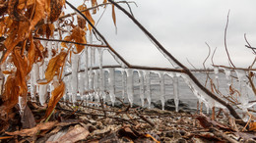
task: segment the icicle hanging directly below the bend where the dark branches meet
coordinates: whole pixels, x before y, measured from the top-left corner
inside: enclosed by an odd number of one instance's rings
[[[127,96],[131,106],[133,106],[133,70],[126,69],[125,71],[127,73]]]

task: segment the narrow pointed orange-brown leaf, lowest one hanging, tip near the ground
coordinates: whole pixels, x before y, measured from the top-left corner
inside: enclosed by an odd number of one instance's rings
[[[63,81],[61,81],[60,85],[57,88],[55,88],[51,93],[51,97],[48,103],[48,108],[44,116],[45,119],[48,118],[48,116],[51,114],[51,112],[53,111],[53,109],[55,108],[59,100],[62,98],[62,96],[64,95],[64,91],[65,91],[65,84]]]

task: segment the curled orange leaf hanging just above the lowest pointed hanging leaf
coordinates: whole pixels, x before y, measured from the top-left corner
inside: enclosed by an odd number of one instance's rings
[[[47,82],[40,83],[40,84],[46,84],[49,81],[53,79],[53,76],[55,74],[59,74],[60,68],[64,66],[64,62],[66,59],[67,53],[66,52],[60,52],[59,55],[53,57],[48,64],[48,67],[45,71],[45,79]]]

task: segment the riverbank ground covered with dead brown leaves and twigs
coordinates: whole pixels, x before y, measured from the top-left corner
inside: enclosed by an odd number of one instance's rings
[[[45,108],[30,103],[35,120]],[[16,115],[17,116],[17,115]],[[206,115],[160,109],[104,105],[72,106],[59,103],[50,119],[22,129],[21,119],[12,119],[1,132],[1,142],[254,142],[255,132],[246,131],[223,114],[214,120]],[[3,125],[3,124],[2,124]]]

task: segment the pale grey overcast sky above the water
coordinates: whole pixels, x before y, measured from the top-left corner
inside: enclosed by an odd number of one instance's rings
[[[237,67],[248,67],[255,55],[245,48],[243,34],[256,47],[255,0],[134,0],[131,4],[135,18],[143,24],[174,57],[191,68],[201,68],[208,54],[217,47],[215,64],[228,66],[224,51],[224,26],[230,10],[227,46]],[[74,3],[78,6],[78,3]],[[125,4],[123,7],[127,8]],[[101,14],[99,11],[97,14]],[[98,20],[97,16],[94,16]],[[170,67],[145,34],[116,9],[117,34],[108,6],[96,27],[109,44],[129,63],[155,67]],[[107,61],[107,57],[105,61]],[[207,63],[210,66],[211,62]]]

